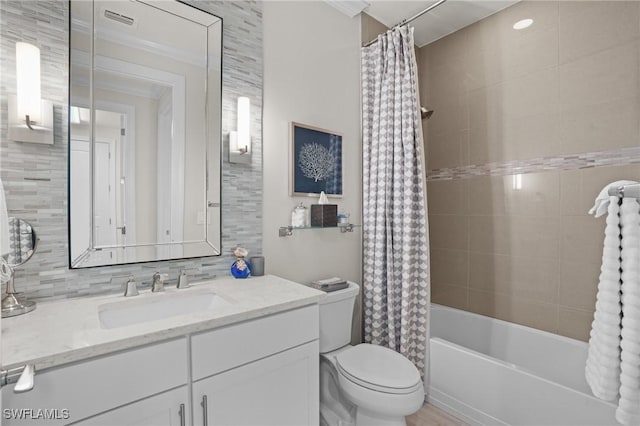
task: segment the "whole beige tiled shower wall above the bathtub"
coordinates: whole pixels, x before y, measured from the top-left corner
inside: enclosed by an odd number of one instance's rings
[[[640,181],[640,3],[522,1],[420,58],[432,300],[587,340],[604,237],[587,211]]]

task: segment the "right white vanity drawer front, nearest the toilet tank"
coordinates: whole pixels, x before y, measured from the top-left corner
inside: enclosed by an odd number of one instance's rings
[[[318,305],[196,334],[192,377],[208,377],[316,339]]]

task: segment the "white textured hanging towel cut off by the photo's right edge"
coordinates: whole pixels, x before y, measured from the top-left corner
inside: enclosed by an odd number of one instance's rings
[[[620,400],[616,419],[640,424],[640,204],[624,198],[620,207],[622,328]]]

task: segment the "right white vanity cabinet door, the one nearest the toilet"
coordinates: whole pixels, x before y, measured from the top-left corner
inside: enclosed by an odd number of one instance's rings
[[[317,425],[318,351],[316,340],[195,382],[194,425]]]

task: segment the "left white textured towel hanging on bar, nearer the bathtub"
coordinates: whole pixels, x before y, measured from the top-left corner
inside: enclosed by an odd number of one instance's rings
[[[602,266],[585,377],[595,396],[613,401],[620,389],[620,208],[617,197],[607,197]],[[599,200],[603,201],[602,198]]]

